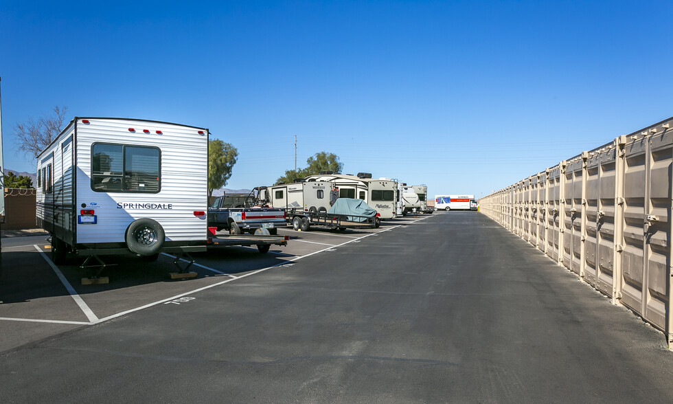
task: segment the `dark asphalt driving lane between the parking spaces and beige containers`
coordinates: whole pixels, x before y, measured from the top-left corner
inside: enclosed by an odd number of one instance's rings
[[[661,333],[486,216],[381,230],[0,352],[0,402],[673,402]]]

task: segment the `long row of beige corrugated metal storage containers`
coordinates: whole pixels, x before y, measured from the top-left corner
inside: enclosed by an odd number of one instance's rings
[[[673,117],[479,200],[480,212],[662,330],[673,346]]]

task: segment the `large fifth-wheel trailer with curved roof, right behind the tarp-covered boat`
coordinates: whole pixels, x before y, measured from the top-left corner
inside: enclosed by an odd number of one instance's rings
[[[358,172],[358,175],[343,175],[324,172],[319,175],[310,175],[306,181],[325,181],[334,184],[339,190],[340,198],[362,199],[376,209],[380,218],[396,217],[396,181],[387,179],[372,179],[367,172]]]

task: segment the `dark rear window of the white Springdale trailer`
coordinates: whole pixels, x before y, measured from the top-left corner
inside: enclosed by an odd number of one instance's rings
[[[161,151],[156,147],[93,144],[91,189],[156,194],[161,190]]]

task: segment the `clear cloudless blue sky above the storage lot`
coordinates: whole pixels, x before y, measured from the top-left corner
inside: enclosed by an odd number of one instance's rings
[[[320,151],[477,197],[673,115],[672,1],[0,1],[14,127],[67,106],[210,129],[227,188]]]

